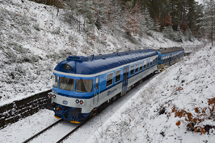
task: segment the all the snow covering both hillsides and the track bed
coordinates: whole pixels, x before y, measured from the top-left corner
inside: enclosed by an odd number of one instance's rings
[[[95,29],[94,41],[83,31],[79,32],[77,25],[64,21],[66,11],[60,10],[59,16],[56,13],[54,7],[27,0],[24,3],[21,0],[0,0],[0,105],[50,89],[54,66],[72,54],[88,56],[128,48],[182,46],[186,52],[193,53],[147,81],[145,86],[122,97],[122,102],[116,101],[66,142],[214,141],[214,129],[210,130],[210,134],[188,131],[188,117],[175,117],[173,109],[178,112],[185,110],[192,114],[193,119],[200,118],[195,108],[200,112],[204,110],[204,121],[198,122],[195,127],[215,126],[214,116],[209,117],[212,105],[208,105],[208,99],[215,97],[215,47],[197,46],[202,43],[197,40],[176,43],[154,31],[151,31],[151,36],[135,37],[139,43],[135,45],[120,32],[113,34]],[[0,142],[24,141],[57,121],[53,114],[52,111],[40,110],[1,129]],[[176,125],[178,121],[179,126]],[[51,131],[44,134],[45,140],[33,142],[54,142],[50,136],[58,138],[62,135],[60,132],[65,133],[73,127],[73,124],[64,122],[61,127],[55,128],[57,132],[53,132],[56,134]]]

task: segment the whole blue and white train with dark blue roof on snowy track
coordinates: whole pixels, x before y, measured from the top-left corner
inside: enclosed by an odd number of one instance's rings
[[[183,56],[182,47],[68,56],[53,70],[54,84],[48,96],[54,116],[79,124]]]

